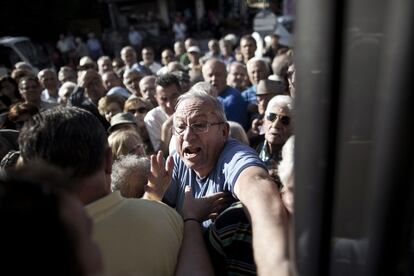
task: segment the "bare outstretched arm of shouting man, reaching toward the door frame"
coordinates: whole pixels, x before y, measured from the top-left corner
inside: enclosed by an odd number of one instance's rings
[[[277,185],[265,169],[251,166],[237,178],[234,193],[250,216],[259,275],[289,275],[288,220]]]

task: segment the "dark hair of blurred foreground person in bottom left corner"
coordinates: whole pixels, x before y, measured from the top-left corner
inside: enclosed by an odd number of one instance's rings
[[[43,176],[37,177],[39,172]],[[57,171],[45,171],[41,166],[0,176],[0,238],[7,252],[2,257],[3,272],[82,275],[76,237],[61,213],[65,194],[55,187],[56,182],[65,183],[65,179]]]

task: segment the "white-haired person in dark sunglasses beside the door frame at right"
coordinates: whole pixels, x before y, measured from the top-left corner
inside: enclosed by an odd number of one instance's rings
[[[267,105],[263,118],[261,142],[256,144],[260,159],[265,162],[269,174],[280,185],[277,165],[281,160],[281,150],[293,134],[293,99],[286,95],[274,96]]]

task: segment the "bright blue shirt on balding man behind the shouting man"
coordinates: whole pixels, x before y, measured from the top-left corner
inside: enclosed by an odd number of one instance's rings
[[[249,129],[249,116],[247,114],[247,104],[240,92],[235,88],[227,86],[217,97],[224,107],[227,120],[234,121]]]

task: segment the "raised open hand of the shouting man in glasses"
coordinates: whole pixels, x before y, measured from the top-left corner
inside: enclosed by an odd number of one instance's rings
[[[162,151],[158,151],[157,155],[151,155],[150,159],[151,172],[143,198],[161,201],[171,181],[174,161],[171,156],[165,160]]]

